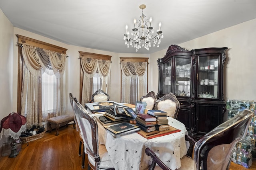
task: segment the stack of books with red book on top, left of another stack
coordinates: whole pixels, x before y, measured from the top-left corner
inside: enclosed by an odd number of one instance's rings
[[[149,114],[138,113],[136,117],[136,125],[145,132],[155,131],[156,117]]]

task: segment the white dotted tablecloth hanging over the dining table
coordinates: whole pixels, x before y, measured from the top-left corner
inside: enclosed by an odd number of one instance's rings
[[[98,123],[98,135],[101,145],[105,145],[116,170],[144,170],[148,168],[152,159],[145,153],[150,147],[156,155],[168,166],[175,170],[180,168],[180,159],[186,155],[187,146],[186,127],[180,121],[168,117],[169,125],[180,129],[180,132],[146,139],[138,133],[112,137],[104,127]]]

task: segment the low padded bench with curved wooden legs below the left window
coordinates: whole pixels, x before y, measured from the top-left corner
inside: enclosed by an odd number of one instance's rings
[[[68,123],[71,121],[74,121],[74,115],[60,115],[60,116],[50,118],[47,120],[49,132],[51,133],[52,131],[51,125],[56,125],[56,136],[57,136],[59,135],[60,126],[66,125],[66,127],[68,127]],[[74,129],[76,128],[75,121],[73,123],[73,127]]]

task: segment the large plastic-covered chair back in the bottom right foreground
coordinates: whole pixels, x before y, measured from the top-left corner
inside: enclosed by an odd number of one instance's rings
[[[197,170],[227,170],[234,145],[246,136],[253,112],[245,109],[204,135],[194,146]]]

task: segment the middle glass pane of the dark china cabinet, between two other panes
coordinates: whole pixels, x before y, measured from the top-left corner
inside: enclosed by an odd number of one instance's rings
[[[175,95],[190,96],[191,58],[175,58]]]

